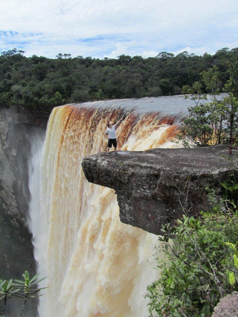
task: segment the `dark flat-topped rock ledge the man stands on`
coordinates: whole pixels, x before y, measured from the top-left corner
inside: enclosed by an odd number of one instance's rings
[[[205,186],[220,188],[235,164],[222,158],[227,146],[98,153],[83,159],[91,183],[116,191],[123,223],[159,234],[161,225],[209,209]]]

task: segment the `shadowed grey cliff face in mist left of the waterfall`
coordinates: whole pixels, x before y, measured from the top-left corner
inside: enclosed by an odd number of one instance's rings
[[[30,139],[44,133],[48,114],[0,108],[0,278],[34,275],[35,259],[28,229]],[[15,316],[14,310],[6,316]],[[29,305],[27,305],[29,308]],[[32,305],[30,305],[32,307]],[[34,309],[31,310],[31,315]],[[27,313],[27,311],[25,312]],[[30,311],[29,311],[30,314]]]

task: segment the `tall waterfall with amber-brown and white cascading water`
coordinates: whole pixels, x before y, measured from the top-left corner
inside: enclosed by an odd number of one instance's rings
[[[153,269],[157,236],[121,223],[115,192],[88,183],[81,168],[85,156],[106,151],[106,123],[121,116],[119,150],[173,146],[173,117],[68,105],[53,109],[43,152],[34,152],[31,230],[49,287],[40,317],[148,315],[143,295],[159,274]]]

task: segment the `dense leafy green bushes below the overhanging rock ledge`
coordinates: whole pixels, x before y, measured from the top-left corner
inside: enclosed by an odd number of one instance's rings
[[[222,186],[216,205],[209,193],[211,212],[163,226],[155,249],[161,275],[147,287],[149,316],[210,317],[223,296],[238,291],[238,190],[231,182]]]

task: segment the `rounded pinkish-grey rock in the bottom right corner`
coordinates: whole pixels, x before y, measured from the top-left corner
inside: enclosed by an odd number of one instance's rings
[[[223,297],[215,307],[212,317],[237,317],[238,316],[238,292],[233,292]]]

